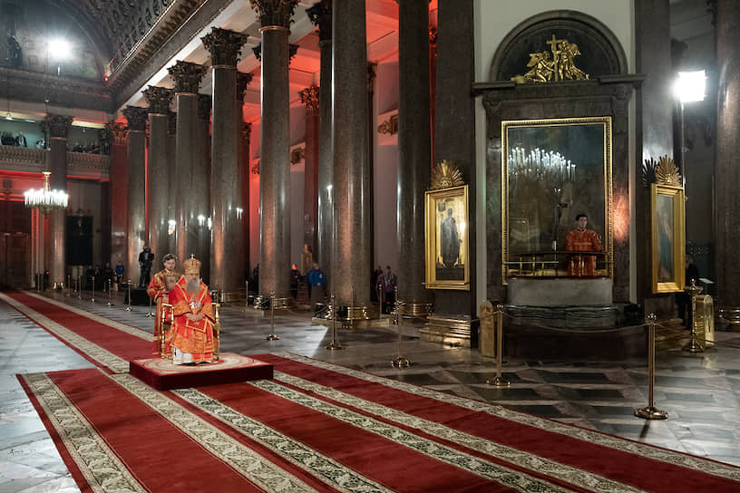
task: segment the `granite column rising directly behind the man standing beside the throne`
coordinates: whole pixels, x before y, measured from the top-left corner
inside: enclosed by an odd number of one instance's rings
[[[149,86],[143,91],[149,102],[149,162],[147,164],[147,223],[149,246],[154,254],[153,272],[159,270],[162,257],[170,252],[168,235],[170,184],[168,173],[170,103],[174,93],[164,87]]]

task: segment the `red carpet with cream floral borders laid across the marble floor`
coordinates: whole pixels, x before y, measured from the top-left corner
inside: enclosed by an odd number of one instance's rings
[[[29,297],[74,333],[89,324]],[[297,355],[255,357],[273,380],[159,392],[110,367],[19,380],[83,491],[740,490],[740,469],[711,460]]]

